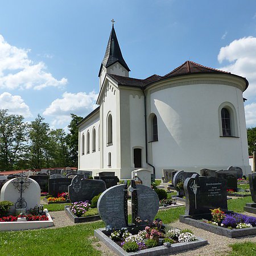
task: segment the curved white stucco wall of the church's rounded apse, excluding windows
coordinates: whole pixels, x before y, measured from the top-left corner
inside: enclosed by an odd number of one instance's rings
[[[150,97],[147,112],[155,113],[158,118],[158,141],[148,143],[156,177],[162,176],[163,168],[199,171],[239,166],[248,173],[241,89],[211,84],[212,80],[187,85],[179,82],[170,86],[170,81],[166,81],[159,90],[147,92]],[[220,137],[218,108],[222,102],[230,102],[236,109],[238,138]]]

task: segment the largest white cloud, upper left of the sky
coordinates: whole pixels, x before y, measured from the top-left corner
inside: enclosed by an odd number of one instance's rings
[[[0,88],[39,90],[47,86],[61,87],[67,84],[67,79],[57,80],[48,73],[43,62],[34,63],[28,59],[28,52],[29,49],[11,46],[0,35]]]

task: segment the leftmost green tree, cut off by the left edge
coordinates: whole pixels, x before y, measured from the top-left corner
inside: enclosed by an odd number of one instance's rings
[[[27,123],[22,115],[0,110],[0,170],[14,170],[26,158]]]

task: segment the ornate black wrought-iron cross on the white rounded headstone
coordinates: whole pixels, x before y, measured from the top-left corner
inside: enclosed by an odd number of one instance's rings
[[[20,197],[15,203],[16,209],[23,209],[27,207],[27,202],[25,201],[24,197],[22,197],[22,193],[26,190],[26,188],[30,185],[31,182],[32,181],[27,179],[27,176],[23,174],[23,171],[20,177],[17,177],[11,182],[20,193]]]

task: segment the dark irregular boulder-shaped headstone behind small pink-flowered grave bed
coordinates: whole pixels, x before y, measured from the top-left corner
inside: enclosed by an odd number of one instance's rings
[[[84,175],[76,175],[68,186],[71,203],[79,201],[90,201],[94,196],[104,192],[106,184],[102,180],[84,179]]]

